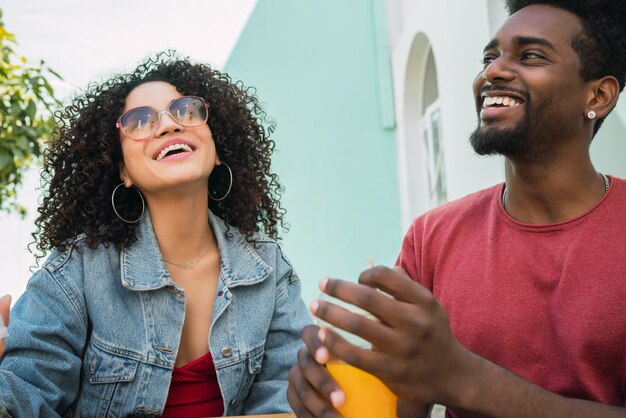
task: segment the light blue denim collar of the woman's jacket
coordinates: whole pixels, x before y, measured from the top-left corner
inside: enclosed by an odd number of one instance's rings
[[[258,235],[251,244],[237,228],[231,226],[227,236],[226,224],[211,211],[209,223],[220,252],[220,279],[226,287],[255,284],[265,280],[272,273],[272,267],[265,263],[253,248],[255,242],[263,245],[257,240]],[[139,221],[135,233],[137,241],[129,247],[122,248],[120,253],[122,285],[139,291],[174,286],[163,261],[148,211]]]

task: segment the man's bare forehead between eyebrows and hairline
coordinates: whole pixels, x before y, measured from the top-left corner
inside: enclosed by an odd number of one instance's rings
[[[580,19],[572,12],[545,4],[533,4],[509,16],[490,44],[537,38],[545,39],[557,47],[571,45],[571,40],[582,28]]]

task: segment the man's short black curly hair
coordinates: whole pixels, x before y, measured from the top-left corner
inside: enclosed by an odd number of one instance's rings
[[[572,39],[584,81],[604,76],[626,83],[626,1],[623,0],[506,0],[509,14],[531,4],[546,4],[574,13],[583,30]],[[598,119],[594,134],[604,122]]]

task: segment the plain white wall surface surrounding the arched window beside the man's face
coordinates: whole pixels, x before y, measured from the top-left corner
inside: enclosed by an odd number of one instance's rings
[[[413,217],[426,209],[424,204],[411,201],[414,191],[424,187],[420,186],[424,161],[423,156],[416,155],[415,144],[406,141],[408,131],[415,125],[414,118],[419,117],[416,112],[420,111],[412,108],[415,103],[406,100],[407,94],[417,87],[414,74],[407,74],[416,38],[418,43],[430,42],[437,65],[449,200],[503,178],[502,159],[475,155],[468,141],[476,127],[472,81],[481,70],[480,59],[489,40],[493,15],[490,16],[485,0],[390,0],[387,18],[398,122],[402,227],[406,228]]]

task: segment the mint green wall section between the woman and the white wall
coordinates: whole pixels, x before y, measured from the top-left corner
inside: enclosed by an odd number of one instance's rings
[[[324,276],[356,280],[369,257],[392,264],[402,240],[377,1],[259,0],[225,66],[278,124],[283,247],[306,301]]]

